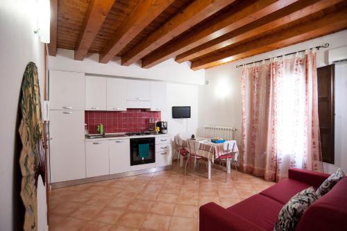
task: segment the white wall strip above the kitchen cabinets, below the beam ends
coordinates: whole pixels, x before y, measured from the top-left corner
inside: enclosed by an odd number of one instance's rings
[[[129,67],[121,66],[118,57],[107,64],[99,63],[99,54],[88,54],[83,61],[77,61],[74,60],[74,51],[66,49],[58,49],[56,57],[49,56],[49,69],[192,84],[203,84],[205,77],[204,70],[193,71],[187,62],[178,64],[174,59],[143,69],[137,63]]]

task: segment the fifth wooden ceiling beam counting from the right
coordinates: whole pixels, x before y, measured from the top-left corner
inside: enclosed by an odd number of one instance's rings
[[[121,49],[160,15],[174,0],[142,0],[126,17],[99,56],[99,62],[109,62]]]

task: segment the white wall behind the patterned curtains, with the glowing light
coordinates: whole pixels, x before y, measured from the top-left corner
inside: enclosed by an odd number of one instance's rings
[[[234,126],[238,128],[235,137],[237,142],[240,142],[240,128],[241,128],[241,74],[242,67],[236,68],[236,65],[255,62],[266,58],[283,55],[286,53],[301,51],[309,49],[313,46],[319,46],[328,42],[330,44],[328,49],[334,49],[340,46],[347,45],[347,30],[340,31],[324,37],[319,37],[314,40],[302,42],[293,46],[288,46],[283,49],[263,53],[261,55],[255,55],[251,58],[244,60],[238,60],[227,65],[206,69],[205,80],[210,83],[208,85],[199,86],[198,95],[198,129],[201,135],[203,135],[203,126],[205,125],[218,125],[218,126]],[[328,49],[320,49],[317,51],[317,67],[328,65]],[[341,70],[342,71],[342,70]],[[328,170],[331,173],[337,166],[347,166],[346,158],[346,145],[343,138],[346,140],[346,105],[341,105],[341,99],[346,101],[347,88],[346,88],[346,71],[341,76],[336,76],[335,93],[337,99],[335,105],[337,108],[337,117],[335,119],[335,160],[340,160],[342,163],[331,166],[330,164],[324,164],[325,171]],[[344,83],[342,83],[344,81]],[[340,101],[339,101],[340,99]],[[345,103],[346,104],[346,103]],[[347,169],[345,169],[347,172]]]

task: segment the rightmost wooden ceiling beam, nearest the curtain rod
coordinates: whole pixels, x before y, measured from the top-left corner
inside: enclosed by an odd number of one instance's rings
[[[208,55],[204,55],[202,58],[192,60],[191,68],[193,70],[198,70],[215,67],[227,62],[234,62],[235,60],[273,51],[298,42],[312,40],[315,37],[339,31],[347,27],[346,15],[347,8],[344,8],[338,12],[325,15],[321,19],[312,20],[312,22],[307,22],[305,24],[298,24],[284,31],[264,36],[260,39],[247,42],[246,44],[230,46],[229,49],[208,53]]]

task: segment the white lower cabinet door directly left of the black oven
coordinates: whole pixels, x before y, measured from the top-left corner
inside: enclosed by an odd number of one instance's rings
[[[110,174],[130,171],[130,139],[108,141]]]

